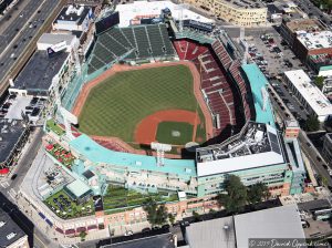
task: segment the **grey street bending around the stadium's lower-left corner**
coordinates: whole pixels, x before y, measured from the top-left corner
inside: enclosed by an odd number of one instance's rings
[[[44,232],[40,231],[34,227],[33,223],[29,220],[29,217],[25,214],[21,213],[18,206],[14,205],[15,199],[12,198],[10,192],[19,192],[19,186],[21,185],[27,172],[30,168],[40,146],[41,138],[43,135],[42,128],[35,130],[33,134],[33,138],[31,140],[31,144],[28,151],[22,155],[20,163],[17,165],[14,174],[17,174],[17,178],[14,180],[9,179],[9,186],[7,188],[0,187],[0,207],[2,207],[7,213],[10,213],[13,220],[29,235],[30,247],[37,248],[46,248],[51,247],[51,241],[44,235]]]

